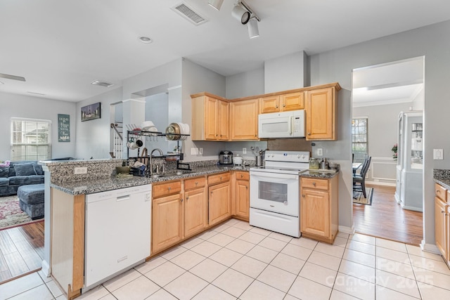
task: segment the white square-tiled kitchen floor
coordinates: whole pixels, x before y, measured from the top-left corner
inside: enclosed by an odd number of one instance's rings
[[[32,273],[0,285],[1,299],[65,299]],[[335,244],[231,219],[78,299],[450,299],[441,256],[367,235]]]

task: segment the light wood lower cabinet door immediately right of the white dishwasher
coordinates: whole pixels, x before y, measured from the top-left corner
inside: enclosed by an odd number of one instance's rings
[[[158,252],[183,238],[183,199],[181,194],[153,200],[152,252]]]

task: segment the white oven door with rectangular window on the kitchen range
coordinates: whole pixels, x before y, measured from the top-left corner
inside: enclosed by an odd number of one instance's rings
[[[250,207],[288,216],[300,215],[300,176],[250,172]]]

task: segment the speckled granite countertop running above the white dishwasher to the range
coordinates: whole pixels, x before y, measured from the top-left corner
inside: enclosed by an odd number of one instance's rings
[[[51,188],[62,190],[70,195],[82,195],[105,192],[107,190],[117,190],[119,188],[129,188],[136,185],[145,185],[149,183],[157,183],[161,181],[172,181],[176,179],[205,176],[226,171],[250,171],[248,166],[210,166],[199,167],[192,171],[183,171],[181,175],[172,175],[177,170],[168,171],[169,176],[160,176],[157,178],[148,178],[140,176],[132,176],[125,178],[117,178],[111,176],[109,178],[98,178],[95,181],[67,181],[63,183],[50,183]]]

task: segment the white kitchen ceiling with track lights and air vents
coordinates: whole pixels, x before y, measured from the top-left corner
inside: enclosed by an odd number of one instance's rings
[[[255,39],[231,17],[236,0],[184,0],[207,19],[198,26],[170,9],[181,0],[0,0],[0,73],[27,80],[0,78],[0,91],[79,101],[181,57],[228,76],[450,18],[448,0],[245,1],[261,18]]]

